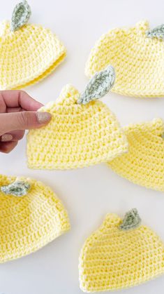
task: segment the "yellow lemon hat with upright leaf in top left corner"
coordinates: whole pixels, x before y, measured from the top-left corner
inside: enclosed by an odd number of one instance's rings
[[[30,86],[50,74],[64,60],[66,48],[41,25],[27,25],[27,1],[15,6],[11,22],[0,24],[0,89]]]

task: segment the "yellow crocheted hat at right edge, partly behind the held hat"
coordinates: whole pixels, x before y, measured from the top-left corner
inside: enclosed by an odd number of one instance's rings
[[[122,177],[147,188],[164,191],[164,123],[154,119],[124,128],[128,153],[108,163]]]

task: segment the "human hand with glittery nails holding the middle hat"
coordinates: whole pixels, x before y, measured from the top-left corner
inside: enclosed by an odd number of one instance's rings
[[[24,130],[45,126],[48,112],[24,91],[0,91],[0,152],[9,153],[24,136]]]

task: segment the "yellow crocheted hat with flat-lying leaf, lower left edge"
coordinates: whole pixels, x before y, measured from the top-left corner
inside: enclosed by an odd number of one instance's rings
[[[70,229],[67,212],[42,182],[0,176],[0,262],[45,246]]]

